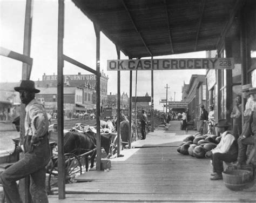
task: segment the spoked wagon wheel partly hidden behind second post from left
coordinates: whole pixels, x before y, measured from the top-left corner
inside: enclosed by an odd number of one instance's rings
[[[65,182],[66,184],[75,182],[75,178],[82,174],[82,164],[79,158],[72,153],[66,153],[65,155]],[[48,178],[48,191],[52,194],[52,187],[57,186],[58,182],[58,159],[53,157],[53,167],[49,171]]]

